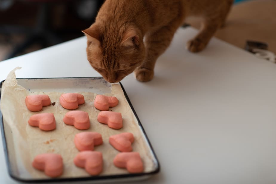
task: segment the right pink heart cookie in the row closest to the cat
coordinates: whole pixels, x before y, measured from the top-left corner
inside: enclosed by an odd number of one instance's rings
[[[96,109],[102,111],[108,111],[109,107],[115,107],[119,101],[116,97],[110,97],[105,95],[97,95],[94,100],[94,106]]]

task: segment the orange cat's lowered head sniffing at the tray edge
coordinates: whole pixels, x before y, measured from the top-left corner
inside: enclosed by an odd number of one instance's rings
[[[121,81],[140,66],[145,58],[142,34],[133,26],[112,31],[95,23],[82,32],[87,36],[89,63],[108,82]]]

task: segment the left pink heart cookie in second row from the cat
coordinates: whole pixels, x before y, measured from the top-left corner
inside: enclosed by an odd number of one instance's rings
[[[50,131],[56,128],[56,119],[53,113],[35,114],[28,120],[30,126],[39,127],[41,130]]]

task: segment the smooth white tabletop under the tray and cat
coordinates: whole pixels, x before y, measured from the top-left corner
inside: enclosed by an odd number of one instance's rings
[[[215,38],[190,53],[196,32],[177,31],[151,82],[122,81],[161,165],[141,183],[275,184],[276,65]],[[17,66],[18,78],[99,76],[85,47],[82,37],[2,61],[0,80]],[[3,151],[0,168],[1,183],[16,183]]]

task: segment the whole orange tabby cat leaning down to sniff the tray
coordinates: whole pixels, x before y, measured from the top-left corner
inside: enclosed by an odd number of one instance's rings
[[[108,82],[134,74],[150,81],[157,58],[189,16],[203,18],[200,32],[187,43],[199,52],[223,25],[233,0],[106,0],[86,30],[87,58]]]

